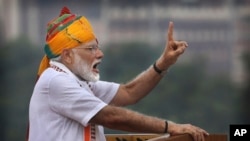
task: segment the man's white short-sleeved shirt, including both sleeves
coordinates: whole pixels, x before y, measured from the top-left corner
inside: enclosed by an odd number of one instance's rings
[[[119,84],[80,81],[66,66],[50,62],[37,81],[29,107],[29,141],[84,141],[84,127],[115,96]],[[94,125],[91,141],[105,141]]]

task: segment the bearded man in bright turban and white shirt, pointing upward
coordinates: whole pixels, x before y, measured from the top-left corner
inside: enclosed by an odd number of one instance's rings
[[[88,20],[64,7],[48,23],[38,80],[30,101],[30,141],[105,141],[103,126],[139,133],[189,133],[204,141],[208,133],[190,124],[143,115],[122,106],[135,104],[163,78],[187,43],[168,40],[159,59],[126,84],[100,81],[104,57]]]

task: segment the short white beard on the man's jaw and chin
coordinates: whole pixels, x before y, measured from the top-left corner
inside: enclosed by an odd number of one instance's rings
[[[74,74],[80,79],[85,81],[96,82],[100,79],[100,75],[91,71],[91,66],[80,58],[78,54],[75,54],[75,60],[73,64]]]

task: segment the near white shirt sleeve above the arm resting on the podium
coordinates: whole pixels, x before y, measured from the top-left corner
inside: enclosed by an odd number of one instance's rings
[[[52,110],[84,126],[107,105],[67,75],[55,76],[49,85],[49,103]]]

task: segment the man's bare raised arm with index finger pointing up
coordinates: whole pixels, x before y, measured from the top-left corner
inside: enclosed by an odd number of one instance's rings
[[[169,23],[167,43],[161,56],[147,70],[139,74],[132,81],[121,84],[117,95],[110,104],[125,106],[134,104],[145,97],[161,80],[164,72],[173,65],[178,57],[187,48],[185,41],[176,41],[173,38],[173,22]]]

